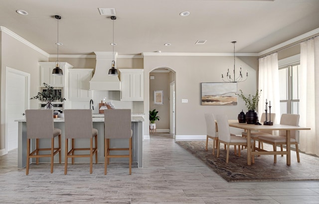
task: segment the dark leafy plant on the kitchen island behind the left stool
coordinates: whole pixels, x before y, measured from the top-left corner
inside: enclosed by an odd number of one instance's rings
[[[37,99],[41,102],[46,102],[45,108],[47,108],[47,109],[52,109],[52,107],[53,107],[52,102],[65,101],[65,98],[62,98],[61,96],[55,95],[53,93],[54,87],[51,87],[50,85],[48,85],[46,83],[43,83],[43,85],[45,86],[46,91],[38,92],[38,94],[35,97],[32,97],[31,99]]]

